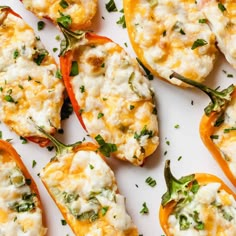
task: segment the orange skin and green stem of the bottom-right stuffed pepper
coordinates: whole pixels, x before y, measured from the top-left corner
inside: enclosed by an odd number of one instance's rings
[[[196,173],[181,177],[180,179],[176,179],[170,171],[169,160],[166,161],[165,165],[165,180],[167,184],[167,192],[162,196],[162,204],[159,209],[159,220],[166,236],[174,236],[174,234],[170,232],[170,224],[168,223],[169,217],[176,211],[176,215],[181,214],[178,213],[179,209],[177,210],[177,207],[181,208],[181,206],[178,206],[178,204],[181,205],[181,202],[183,203],[186,201],[186,199],[188,198],[188,192],[193,192],[193,194],[195,195],[201,187],[208,184],[217,183],[220,184],[219,191],[225,191],[227,194],[232,195],[234,201],[236,201],[236,194],[234,193],[234,191],[232,191],[220,178],[215,175],[208,173]],[[183,193],[186,198],[183,198],[183,195],[181,195]],[[186,207],[187,204],[188,203],[186,203],[185,205],[183,204],[182,208]],[[195,206],[195,210],[196,209],[197,205]],[[198,221],[198,223],[200,223],[200,219],[198,219]],[[213,218],[211,218],[210,221],[206,221],[205,224],[203,224],[204,227],[198,230],[208,230],[212,222],[214,222]],[[182,232],[185,232],[184,229]]]

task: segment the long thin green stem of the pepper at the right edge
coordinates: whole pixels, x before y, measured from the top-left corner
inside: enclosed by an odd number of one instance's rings
[[[173,72],[170,75],[170,79],[172,79],[172,78],[179,79],[186,84],[189,84],[189,85],[192,85],[196,88],[199,88],[201,91],[203,91],[204,93],[206,93],[210,97],[211,102],[204,109],[205,114],[207,116],[209,116],[211,114],[211,112],[213,112],[213,111],[221,112],[226,107],[226,104],[231,100],[231,98],[232,98],[231,95],[232,95],[234,88],[235,88],[235,86],[233,84],[231,84],[228,88],[223,89],[222,91],[217,91],[217,90],[211,89],[201,83],[187,79],[184,76],[182,76],[176,72]]]

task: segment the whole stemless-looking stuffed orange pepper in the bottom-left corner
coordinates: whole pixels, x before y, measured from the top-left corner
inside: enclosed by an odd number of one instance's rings
[[[12,221],[11,219],[12,215],[14,214],[14,224],[16,224],[16,227],[23,228],[25,231],[24,233],[29,232],[30,230],[36,232],[37,235],[43,236],[46,234],[46,229],[44,228],[43,225],[45,225],[45,218],[43,214],[43,209],[42,205],[40,202],[40,195],[37,189],[37,186],[32,179],[31,175],[29,174],[28,170],[26,169],[24,163],[22,162],[19,154],[16,152],[16,150],[12,147],[12,145],[4,140],[0,140],[0,165],[2,168],[5,166],[4,171],[9,172],[8,178],[10,178],[11,185],[11,196],[9,197],[4,197],[4,194],[1,195],[1,201],[5,200],[7,198],[10,203],[9,204],[9,210],[1,209],[0,207],[0,228],[1,224],[6,223],[8,220]],[[12,169],[9,169],[12,168]],[[9,169],[9,170],[8,170]],[[0,184],[0,188],[3,186],[5,189],[7,189],[7,183],[8,180],[5,178],[2,178],[0,181],[3,181],[4,183]],[[28,187],[26,187],[28,185]],[[21,190],[22,188],[22,190]],[[30,188],[30,191],[27,190],[27,188]],[[6,190],[5,190],[6,191]],[[1,193],[3,191],[1,190]],[[19,200],[20,194],[22,193],[22,200]],[[6,195],[6,194],[5,194]],[[15,196],[15,199],[13,199]],[[12,204],[12,200],[16,200],[14,204]],[[11,204],[11,205],[10,205]],[[28,212],[28,216],[26,215],[26,212]],[[33,214],[40,214],[40,216],[37,216],[38,221],[34,222],[33,219],[35,219],[35,216]],[[25,215],[25,222],[20,220],[21,215]],[[31,217],[32,214],[32,218]],[[7,216],[7,218],[6,218]],[[19,218],[19,220],[18,220]],[[28,224],[31,222],[31,226],[27,226],[27,220]],[[12,223],[13,224],[13,223]],[[36,225],[35,224],[40,224]],[[38,228],[33,229],[34,227]],[[40,228],[39,228],[40,227]],[[12,229],[15,228],[14,225],[12,225]],[[6,228],[4,227],[4,230]],[[5,232],[5,231],[4,231]],[[10,232],[5,232],[10,233]]]

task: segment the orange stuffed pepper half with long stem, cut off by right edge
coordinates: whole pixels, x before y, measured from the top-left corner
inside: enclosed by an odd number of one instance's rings
[[[230,167],[231,161],[233,161],[233,153],[228,154],[225,148],[222,146],[227,145],[225,140],[233,145],[235,143],[235,131],[232,125],[227,124],[227,109],[231,107],[236,99],[236,89],[234,85],[230,85],[228,88],[218,91],[206,87],[203,84],[191,81],[177,73],[173,73],[171,77],[182,80],[189,85],[199,88],[205,92],[211,99],[210,104],[205,108],[205,114],[200,122],[200,136],[215,158],[225,175],[229,178],[234,186],[236,186],[236,173],[232,167]],[[231,114],[232,115],[232,114]],[[222,138],[220,138],[222,136]]]

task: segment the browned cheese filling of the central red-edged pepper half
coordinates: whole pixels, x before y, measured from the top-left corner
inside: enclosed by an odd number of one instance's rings
[[[80,46],[71,78],[88,133],[117,145],[112,154],[141,165],[159,144],[156,108],[149,81],[117,44]]]

